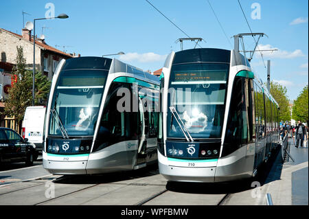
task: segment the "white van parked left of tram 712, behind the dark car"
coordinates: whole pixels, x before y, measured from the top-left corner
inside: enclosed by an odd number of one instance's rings
[[[34,143],[38,152],[43,148],[45,111],[45,106],[28,106],[23,117],[23,138]]]

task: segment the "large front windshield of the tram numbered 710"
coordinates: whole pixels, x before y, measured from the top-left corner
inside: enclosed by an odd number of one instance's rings
[[[168,108],[170,138],[219,138],[225,114],[228,64],[174,65],[170,75]],[[185,132],[183,132],[185,130]]]

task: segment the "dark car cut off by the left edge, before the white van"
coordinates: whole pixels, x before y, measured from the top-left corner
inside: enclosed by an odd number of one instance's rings
[[[0,165],[1,163],[16,163],[25,161],[32,165],[38,157],[34,143],[23,139],[11,128],[0,128]]]

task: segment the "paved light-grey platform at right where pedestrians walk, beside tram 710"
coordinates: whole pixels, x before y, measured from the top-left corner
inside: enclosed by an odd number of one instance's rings
[[[294,159],[282,163],[279,152],[264,186],[273,205],[308,205],[308,141],[306,147],[295,147],[289,138],[290,155]]]

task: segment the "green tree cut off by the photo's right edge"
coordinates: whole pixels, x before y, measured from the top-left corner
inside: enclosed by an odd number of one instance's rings
[[[308,84],[294,101],[293,119],[306,122],[308,124]]]

